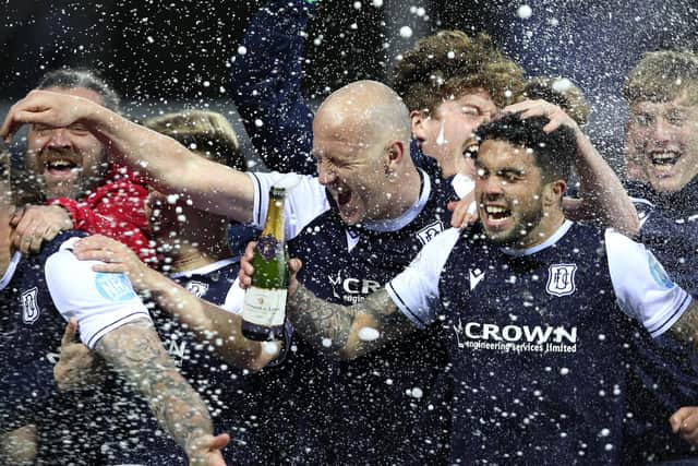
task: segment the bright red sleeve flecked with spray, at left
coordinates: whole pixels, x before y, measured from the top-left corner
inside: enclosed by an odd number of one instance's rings
[[[157,259],[149,244],[145,218],[147,194],[145,187],[125,179],[108,181],[81,201],[59,198],[49,202],[70,212],[73,228],[121,241],[142,261],[154,265]]]

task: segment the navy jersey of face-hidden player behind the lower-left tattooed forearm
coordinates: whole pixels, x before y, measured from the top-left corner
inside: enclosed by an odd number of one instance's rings
[[[222,306],[239,268],[239,258],[234,258],[195,271],[174,273],[170,278],[190,294]],[[202,340],[177,318],[157,307],[152,308],[151,314],[164,347],[182,375],[206,402],[214,431],[227,432],[234,439],[224,450],[225,459],[230,464],[252,464],[258,456],[258,442],[253,438],[256,434],[256,409],[260,408],[256,374],[230,367],[222,360],[216,353],[216,346],[221,343]],[[141,401],[134,403],[128,392],[122,398],[130,403],[119,408],[128,409],[137,422],[123,426],[129,434],[125,435],[122,429],[121,437],[110,442],[110,461],[185,465],[184,451],[160,431],[147,405]]]

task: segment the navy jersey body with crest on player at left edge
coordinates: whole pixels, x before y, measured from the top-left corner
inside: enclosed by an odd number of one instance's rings
[[[39,462],[91,464],[100,458],[99,430],[84,435],[104,406],[100,394],[61,394],[53,382],[65,320],[45,275],[47,259],[68,239],[83,236],[65,231],[45,243],[38,254],[15,253],[0,283],[0,433],[36,425]]]

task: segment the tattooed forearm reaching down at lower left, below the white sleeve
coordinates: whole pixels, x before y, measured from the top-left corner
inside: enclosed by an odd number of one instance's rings
[[[178,372],[149,321],[137,320],[109,332],[95,350],[141,393],[186,452],[192,441],[213,432],[208,409]]]

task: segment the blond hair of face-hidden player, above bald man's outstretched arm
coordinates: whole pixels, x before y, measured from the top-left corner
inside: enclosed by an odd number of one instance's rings
[[[238,136],[221,113],[209,110],[182,110],[149,118],[143,126],[177,140],[209,159],[236,168],[246,169],[246,160]]]

